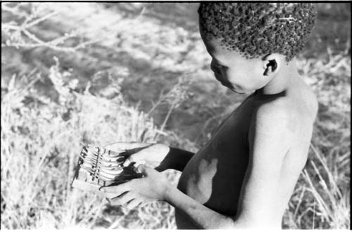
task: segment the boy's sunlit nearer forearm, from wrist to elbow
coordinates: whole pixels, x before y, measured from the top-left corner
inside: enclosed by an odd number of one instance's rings
[[[234,221],[182,193],[175,186],[170,186],[165,193],[165,201],[181,210],[199,228],[234,228]]]

